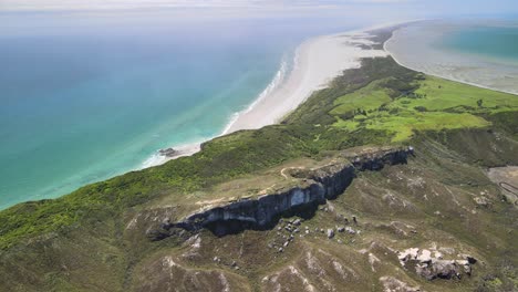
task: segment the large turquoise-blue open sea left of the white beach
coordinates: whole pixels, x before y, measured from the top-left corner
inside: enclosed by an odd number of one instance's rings
[[[0,209],[221,133],[305,38],[352,29],[166,13],[0,14]]]

